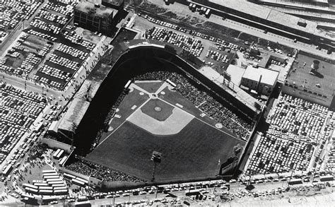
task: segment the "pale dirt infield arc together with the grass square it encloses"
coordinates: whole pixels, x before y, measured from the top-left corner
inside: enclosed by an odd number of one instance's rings
[[[194,116],[163,100],[152,97],[127,119],[155,135],[178,134]]]

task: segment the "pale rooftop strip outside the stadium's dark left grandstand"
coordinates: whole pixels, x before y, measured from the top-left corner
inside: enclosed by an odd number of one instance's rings
[[[80,124],[81,119],[83,119],[89,105],[90,102],[75,97],[69,106],[69,110],[67,110],[63,119],[61,119],[58,129],[62,129],[64,131],[74,131],[74,126],[78,126]]]

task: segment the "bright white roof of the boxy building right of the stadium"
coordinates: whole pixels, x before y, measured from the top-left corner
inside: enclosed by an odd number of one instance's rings
[[[247,78],[249,80],[257,82],[259,81],[260,77],[261,83],[267,85],[275,85],[278,78],[278,72],[264,69],[261,67],[254,68],[252,65],[249,65],[247,66],[247,69],[245,69],[245,73],[242,76],[242,78]]]

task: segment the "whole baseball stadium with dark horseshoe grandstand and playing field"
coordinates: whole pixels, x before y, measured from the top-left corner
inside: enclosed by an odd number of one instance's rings
[[[178,48],[147,41],[120,44],[76,130],[76,154],[145,182],[232,175],[259,111],[208,80]]]

